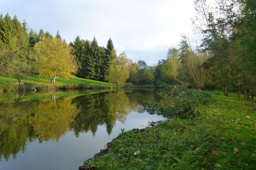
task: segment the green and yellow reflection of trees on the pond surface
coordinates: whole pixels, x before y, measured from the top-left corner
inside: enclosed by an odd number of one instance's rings
[[[60,139],[73,129],[97,132],[105,125],[111,134],[116,121],[125,122],[132,111],[143,113],[142,101],[152,100],[155,93],[147,91],[116,91],[78,96],[75,98],[49,98],[0,103],[0,155],[8,160],[25,151],[28,142]]]

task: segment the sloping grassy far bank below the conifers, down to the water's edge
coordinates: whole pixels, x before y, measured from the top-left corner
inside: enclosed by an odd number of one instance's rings
[[[56,78],[55,83],[49,83],[49,77],[26,77],[21,82],[29,83],[31,86],[36,87],[38,89],[86,89],[86,88],[109,88],[111,86],[115,86],[115,84],[110,84],[107,82],[89,80],[77,78],[75,76],[66,80],[63,78]],[[0,78],[0,85],[2,86],[11,86],[11,84],[18,82],[17,79],[14,78]]]

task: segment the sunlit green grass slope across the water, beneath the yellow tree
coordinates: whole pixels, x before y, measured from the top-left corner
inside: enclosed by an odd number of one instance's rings
[[[62,86],[69,86],[71,83],[75,86],[78,86],[79,84],[86,84],[87,86],[110,86],[110,83],[107,82],[101,82],[101,81],[95,81],[95,80],[89,80],[89,79],[82,79],[77,78],[75,76],[72,76],[68,80],[57,77],[55,80],[55,83],[49,83],[50,78],[49,77],[39,77],[39,76],[33,76],[33,77],[26,77],[21,82],[27,82],[32,84],[33,86],[54,86],[54,87],[62,87]],[[13,78],[0,78],[0,83],[4,82],[18,82],[17,79]],[[113,84],[112,84],[113,85]]]

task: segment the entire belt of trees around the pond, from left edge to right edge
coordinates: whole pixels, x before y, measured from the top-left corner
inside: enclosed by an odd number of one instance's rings
[[[194,36],[200,39],[196,42],[199,46],[193,49],[190,37],[182,35],[179,48],[170,48],[166,58],[153,66],[143,60],[133,62],[125,53],[117,55],[110,38],[106,47],[99,46],[95,37],[89,41],[79,36],[68,45],[59,32],[53,37],[40,30],[37,35],[32,29],[28,32],[25,21],[21,23],[16,16],[11,19],[8,14],[1,15],[0,70],[18,80],[32,67],[30,74],[49,75],[53,82],[56,75],[68,78],[75,74],[122,85],[125,82],[156,87],[182,84],[196,89],[223,89],[225,96],[229,91],[237,91],[238,95],[243,92],[247,99],[250,95],[253,98],[256,85],[254,1],[216,0],[212,5],[206,0],[195,0],[194,7],[193,29]],[[57,48],[60,44],[63,48]],[[55,64],[63,60],[68,61],[68,66],[63,65],[64,62]]]

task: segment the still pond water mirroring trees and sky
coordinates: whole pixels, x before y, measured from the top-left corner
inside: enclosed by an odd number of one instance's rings
[[[106,143],[149,121],[153,90],[55,92],[0,97],[0,169],[78,169]]]

